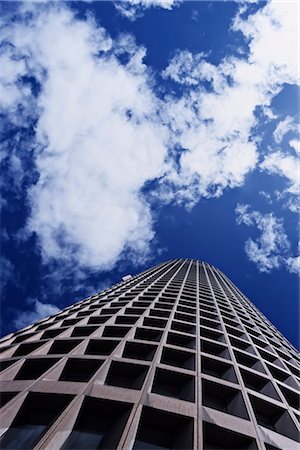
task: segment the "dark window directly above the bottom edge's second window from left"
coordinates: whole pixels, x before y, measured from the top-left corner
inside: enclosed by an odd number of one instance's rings
[[[148,366],[113,361],[105,383],[129,389],[141,389],[147,372]]]

